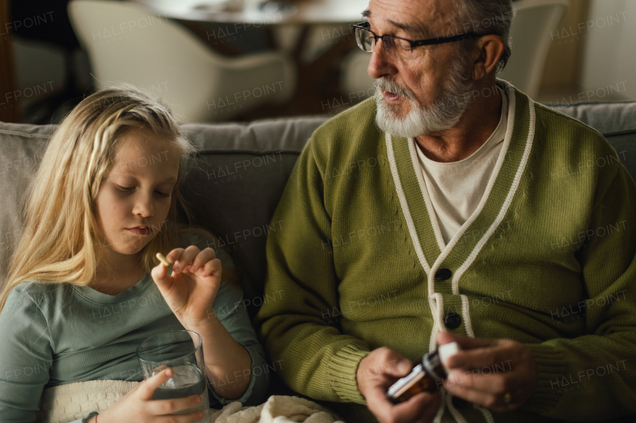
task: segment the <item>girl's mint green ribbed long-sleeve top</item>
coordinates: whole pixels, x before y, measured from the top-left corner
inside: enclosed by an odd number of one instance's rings
[[[209,245],[190,235],[181,241],[183,246]],[[216,253],[224,269],[233,267],[226,252]],[[252,378],[238,400],[223,398],[209,386],[212,408],[232,401],[261,403],[268,385],[265,353],[243,304],[240,286],[222,279],[212,309],[249,352]],[[118,295],[69,283],[20,283],[0,312],[0,422],[34,422],[41,393],[48,387],[85,380],[143,380],[137,346],[156,333],[183,329],[148,273]],[[228,375],[218,388],[232,384],[233,378]]]

